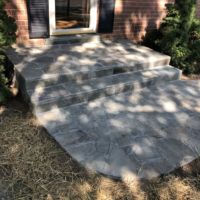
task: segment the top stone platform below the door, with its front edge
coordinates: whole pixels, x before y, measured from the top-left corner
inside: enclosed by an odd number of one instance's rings
[[[169,64],[170,57],[130,42],[84,43],[7,52],[26,82],[59,78],[113,68],[143,70]]]

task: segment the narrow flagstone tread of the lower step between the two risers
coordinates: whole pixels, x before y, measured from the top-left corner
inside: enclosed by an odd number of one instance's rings
[[[162,66],[148,71],[127,72],[102,78],[94,78],[80,84],[63,83],[50,87],[39,86],[35,90],[28,90],[28,94],[33,103],[39,102],[42,104],[46,101],[54,101],[56,99],[68,98],[74,95],[83,95],[95,90],[98,91],[115,85],[126,85],[131,82],[141,84],[148,79],[154,79],[156,77],[168,78],[177,73],[179,73],[179,70],[174,67]]]

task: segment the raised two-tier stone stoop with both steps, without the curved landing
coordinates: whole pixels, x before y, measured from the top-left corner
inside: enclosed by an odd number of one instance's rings
[[[170,57],[127,40],[8,50],[21,93],[41,112],[177,80]]]

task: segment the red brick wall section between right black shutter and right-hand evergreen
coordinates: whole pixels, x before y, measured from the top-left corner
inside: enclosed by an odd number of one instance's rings
[[[114,35],[140,41],[147,29],[159,27],[170,2],[174,0],[116,0]]]

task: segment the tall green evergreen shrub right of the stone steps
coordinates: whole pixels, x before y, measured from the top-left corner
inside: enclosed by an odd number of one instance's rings
[[[196,0],[176,0],[167,5],[167,16],[144,44],[171,56],[172,65],[185,73],[200,73],[200,20]]]

